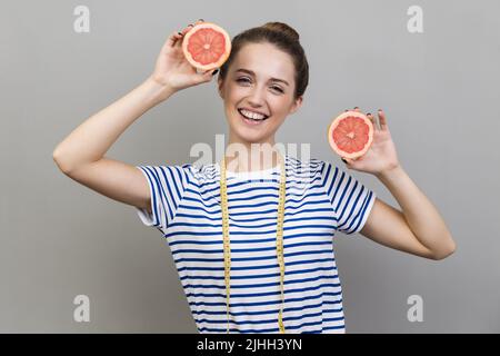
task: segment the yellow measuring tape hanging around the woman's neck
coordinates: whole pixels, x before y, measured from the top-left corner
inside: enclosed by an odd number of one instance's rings
[[[278,152],[280,160],[281,174],[280,174],[280,188],[279,188],[279,204],[278,204],[278,222],[277,222],[277,236],[276,236],[276,251],[278,258],[278,265],[280,266],[280,289],[281,289],[281,308],[278,313],[278,326],[281,334],[284,334],[283,325],[283,305],[284,305],[284,258],[283,258],[283,220],[284,220],[284,192],[286,192],[286,167],[284,159],[281,154]],[[228,186],[226,182],[226,157],[222,158],[220,164],[220,197],[222,209],[222,234],[223,234],[223,250],[224,250],[224,283],[226,283],[226,309],[228,316],[228,330],[229,334],[229,296],[231,285],[231,247],[229,243],[229,210],[228,210]]]

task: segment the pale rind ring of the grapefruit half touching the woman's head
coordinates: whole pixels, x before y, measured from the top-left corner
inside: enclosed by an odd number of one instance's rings
[[[216,61],[211,61],[206,65],[196,60],[189,50],[190,38],[193,34],[196,34],[199,30],[203,30],[203,29],[211,29],[211,30],[222,34],[224,38],[224,41],[223,41],[224,51],[220,55],[220,57]],[[202,22],[202,23],[194,26],[191,30],[189,30],[188,33],[184,34],[184,38],[182,40],[182,51],[183,51],[184,57],[188,60],[188,62],[191,66],[193,66],[194,68],[197,68],[201,71],[211,70],[211,69],[221,67],[228,60],[229,55],[231,53],[231,38],[229,37],[228,32],[226,32],[226,30],[222,29],[220,26],[217,26],[216,23],[212,23],[212,22]]]

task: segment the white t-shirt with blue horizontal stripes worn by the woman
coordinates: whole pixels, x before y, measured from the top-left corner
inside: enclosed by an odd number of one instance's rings
[[[286,333],[346,333],[333,251],[336,231],[363,227],[376,194],[330,162],[284,156]],[[151,192],[147,226],[167,238],[199,333],[226,333],[220,166],[137,166]],[[230,333],[279,333],[276,254],[279,166],[227,170],[231,248]]]

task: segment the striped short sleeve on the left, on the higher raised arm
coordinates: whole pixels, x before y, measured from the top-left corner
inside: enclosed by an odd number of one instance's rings
[[[184,166],[136,166],[144,175],[151,194],[151,214],[136,207],[146,226],[153,226],[164,233],[176,217],[189,178],[189,165]]]

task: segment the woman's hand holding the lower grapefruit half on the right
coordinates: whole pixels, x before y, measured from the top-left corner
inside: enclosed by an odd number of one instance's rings
[[[353,110],[361,112],[358,107],[356,107]],[[342,160],[344,160],[346,166],[349,169],[364,171],[378,176],[399,167],[396,146],[392,141],[391,132],[389,131],[389,127],[387,125],[386,115],[381,109],[379,109],[378,116],[380,120],[380,127],[377,125],[376,118],[371,113],[367,113],[367,117],[373,123],[374,129],[373,141],[368,151],[357,159],[342,157]]]

